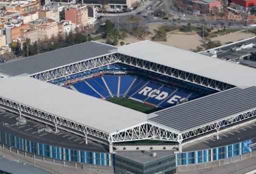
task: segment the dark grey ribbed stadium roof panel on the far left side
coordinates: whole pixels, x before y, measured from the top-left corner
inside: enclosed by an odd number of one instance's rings
[[[112,45],[88,41],[18,60],[8,61],[0,64],[0,73],[7,76],[34,74],[70,63],[107,55],[116,52],[116,50],[117,47]]]

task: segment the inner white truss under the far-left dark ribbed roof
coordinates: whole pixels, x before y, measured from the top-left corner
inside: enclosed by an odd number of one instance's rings
[[[117,61],[115,54],[108,54],[100,57],[86,59],[83,61],[67,64],[65,66],[57,67],[43,72],[31,74],[33,78],[44,81],[53,80],[56,78],[64,77],[78,72],[83,72],[92,68],[100,67]]]

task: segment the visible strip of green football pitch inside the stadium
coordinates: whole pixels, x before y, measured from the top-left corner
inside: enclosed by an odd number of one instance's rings
[[[125,107],[129,107],[131,109],[138,110],[138,111],[144,112],[144,113],[151,113],[151,112],[159,110],[159,108],[156,108],[156,107],[153,107],[150,105],[146,105],[141,102],[138,102],[138,101],[135,101],[132,99],[128,99],[128,98],[109,98],[108,101],[125,106]]]

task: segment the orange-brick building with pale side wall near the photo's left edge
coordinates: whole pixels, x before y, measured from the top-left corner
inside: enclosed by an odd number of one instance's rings
[[[28,29],[29,24],[20,24],[20,25],[15,25],[11,23],[6,23],[6,42],[7,44],[11,43],[15,39],[18,39],[21,37],[21,30],[22,29]]]

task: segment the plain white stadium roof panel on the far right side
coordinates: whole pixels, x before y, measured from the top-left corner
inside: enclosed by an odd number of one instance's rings
[[[235,86],[256,85],[255,68],[149,40],[120,46],[117,51]]]

